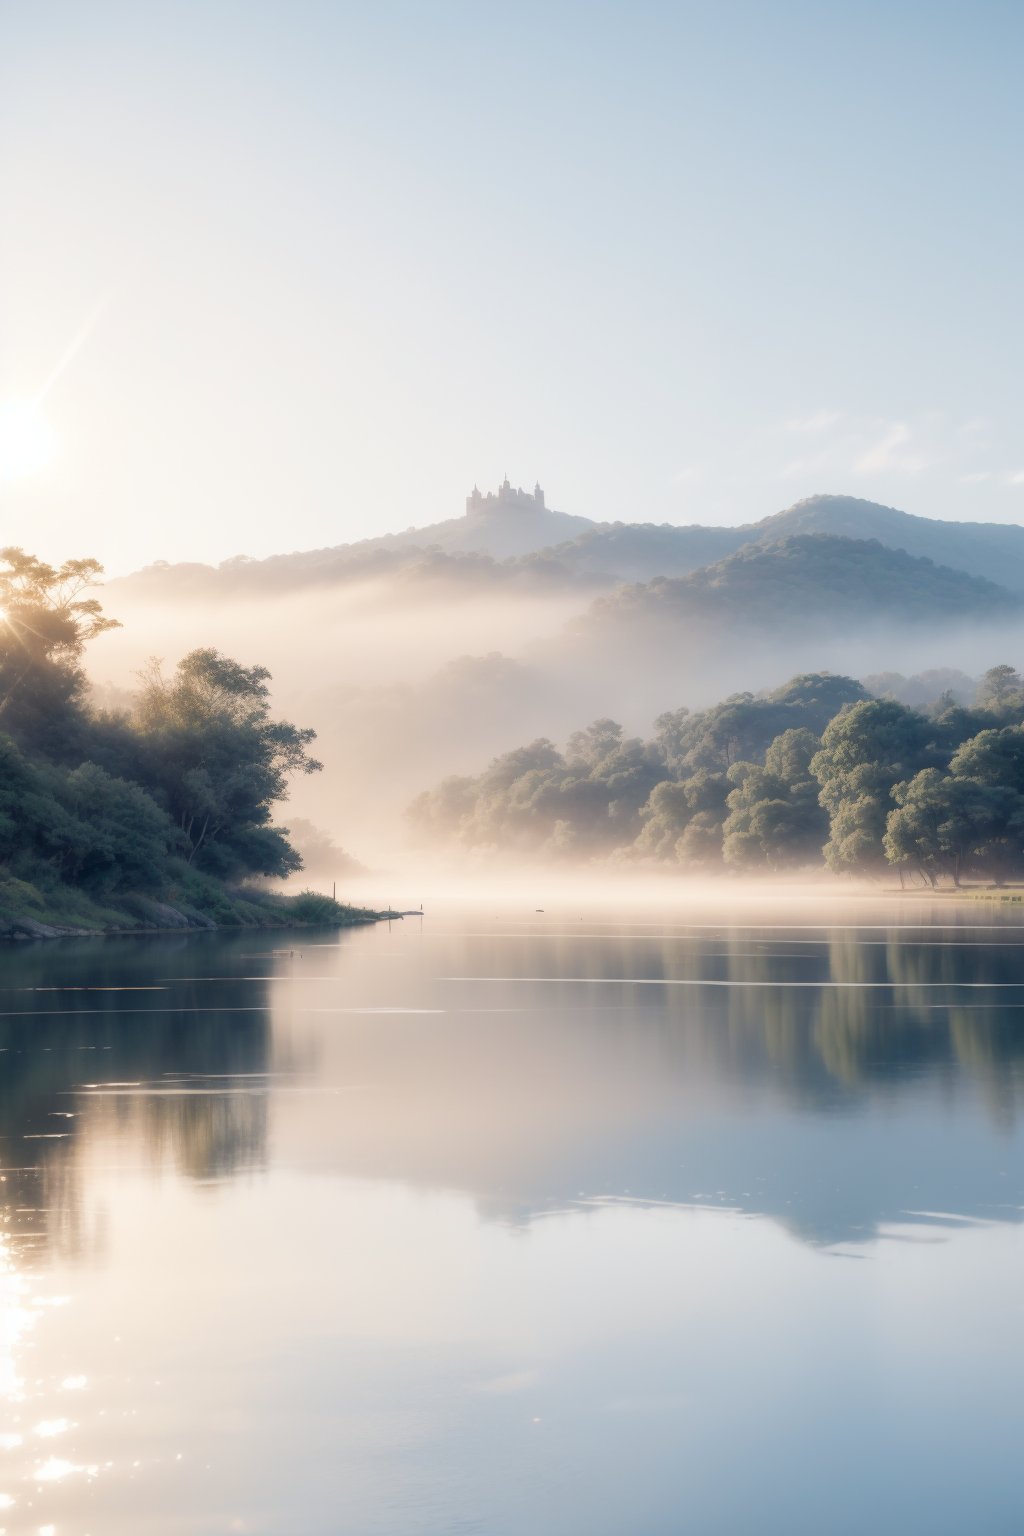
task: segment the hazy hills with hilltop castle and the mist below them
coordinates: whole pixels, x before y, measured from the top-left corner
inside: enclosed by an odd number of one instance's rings
[[[1021,653],[1022,593],[1019,527],[844,496],[732,528],[596,524],[505,485],[431,528],[109,582],[124,628],[95,667],[117,705],[154,651],[210,645],[267,665],[330,765],[295,785],[289,814],[365,856],[350,806],[390,846],[424,785],[586,719],[648,731],[665,710],[821,671],[880,674],[898,693],[960,668],[967,697]]]

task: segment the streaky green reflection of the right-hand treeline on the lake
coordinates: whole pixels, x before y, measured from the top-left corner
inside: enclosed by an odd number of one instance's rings
[[[999,1121],[1013,1117],[1024,1072],[1024,1029],[1016,1025],[1024,985],[1019,992],[1006,988],[1024,980],[1024,946],[986,943],[969,925],[950,935],[955,943],[918,943],[898,928],[878,929],[870,942],[846,929],[820,943],[769,943],[757,934],[616,935],[606,946],[567,938],[539,948],[530,966],[534,975],[548,971],[550,995],[560,991],[559,974],[715,983],[616,989],[619,1017],[645,1017],[680,1066],[700,1058],[732,1078],[769,1078],[801,1103],[829,1106],[966,1071]],[[502,966],[497,951],[493,960],[474,951],[474,963],[481,972]],[[614,1017],[609,1028],[619,1028]]]

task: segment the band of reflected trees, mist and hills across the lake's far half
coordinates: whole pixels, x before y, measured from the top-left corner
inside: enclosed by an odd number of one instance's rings
[[[1013,923],[579,926],[14,952],[5,1230],[95,1252],[83,1135],[220,1180],[266,1167],[272,1121],[282,1166],[465,1189],[513,1221],[603,1195],[814,1243],[909,1209],[1016,1217]]]

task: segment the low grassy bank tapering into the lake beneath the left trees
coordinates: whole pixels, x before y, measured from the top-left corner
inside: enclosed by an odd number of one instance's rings
[[[0,871],[0,938],[189,928],[345,928],[376,922],[379,915],[318,891],[279,895],[258,886],[230,886],[184,862],[158,894],[118,891],[107,900],[57,879],[32,883]]]

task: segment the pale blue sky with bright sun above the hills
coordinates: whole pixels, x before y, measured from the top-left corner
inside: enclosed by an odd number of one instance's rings
[[[1024,522],[1024,8],[0,0],[0,535]]]

